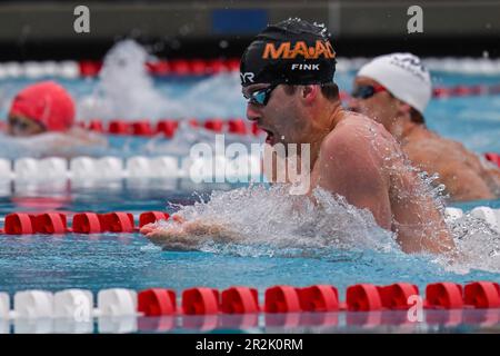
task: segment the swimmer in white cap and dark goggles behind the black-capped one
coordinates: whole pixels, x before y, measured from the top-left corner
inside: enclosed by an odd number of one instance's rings
[[[500,197],[500,170],[426,127],[423,111],[431,98],[429,71],[411,53],[374,58],[356,79],[349,107],[392,134],[421,170],[437,172],[451,200]]]

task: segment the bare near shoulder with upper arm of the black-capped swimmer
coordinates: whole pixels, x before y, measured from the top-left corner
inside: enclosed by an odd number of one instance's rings
[[[369,209],[383,228],[391,227],[388,181],[381,157],[373,147],[378,127],[358,113],[342,112],[343,118],[321,144],[313,167],[312,185],[346,197],[358,208]],[[373,131],[374,130],[374,131]],[[378,140],[386,145],[384,135]]]

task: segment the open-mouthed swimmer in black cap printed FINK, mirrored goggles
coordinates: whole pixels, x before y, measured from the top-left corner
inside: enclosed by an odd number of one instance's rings
[[[241,59],[248,119],[267,132],[268,145],[310,145],[309,191],[321,187],[368,209],[406,253],[451,251],[442,214],[396,139],[382,125],[342,109],[334,58],[323,27],[289,19],[266,28]],[[200,231],[222,234],[207,225],[148,225],[142,233],[160,245]]]

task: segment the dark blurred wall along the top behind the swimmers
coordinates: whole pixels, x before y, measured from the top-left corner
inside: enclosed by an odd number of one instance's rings
[[[73,31],[79,4],[90,9],[90,33]],[[423,33],[407,31],[412,4],[423,10]],[[0,60],[102,59],[121,38],[169,58],[239,57],[267,23],[289,17],[324,23],[342,57],[500,53],[499,1],[17,0],[0,2]]]

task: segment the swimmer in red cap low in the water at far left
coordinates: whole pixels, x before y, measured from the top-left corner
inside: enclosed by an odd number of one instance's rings
[[[104,146],[106,139],[74,126],[74,101],[53,81],[22,89],[12,100],[7,135],[44,156],[71,156],[76,147]]]

